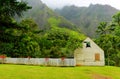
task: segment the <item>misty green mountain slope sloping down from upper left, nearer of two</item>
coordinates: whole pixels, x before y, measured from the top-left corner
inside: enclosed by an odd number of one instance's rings
[[[49,20],[54,19],[59,21],[58,26],[76,30],[76,26],[66,20],[64,17],[58,15],[52,9],[48,8],[40,0],[28,0],[28,5],[32,6],[32,9],[24,13],[24,16],[21,18],[32,18],[38,24],[40,29],[50,29]]]

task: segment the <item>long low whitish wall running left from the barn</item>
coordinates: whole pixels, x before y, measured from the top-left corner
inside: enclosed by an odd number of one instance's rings
[[[28,64],[43,66],[76,66],[74,58],[4,58],[0,63]]]

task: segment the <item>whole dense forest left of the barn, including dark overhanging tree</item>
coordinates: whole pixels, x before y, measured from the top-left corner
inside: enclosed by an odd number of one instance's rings
[[[8,57],[73,57],[73,51],[82,46],[85,36],[74,30],[58,27],[62,20],[55,17],[47,19],[47,30],[41,30],[32,19],[19,22],[14,19],[31,8],[23,1],[2,0],[0,54]]]

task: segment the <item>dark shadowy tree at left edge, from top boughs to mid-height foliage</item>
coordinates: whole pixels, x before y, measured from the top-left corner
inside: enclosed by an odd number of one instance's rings
[[[21,16],[28,9],[27,3],[18,0],[0,0],[0,36],[3,41],[9,38],[6,30],[20,28],[18,23],[12,18],[15,15]]]

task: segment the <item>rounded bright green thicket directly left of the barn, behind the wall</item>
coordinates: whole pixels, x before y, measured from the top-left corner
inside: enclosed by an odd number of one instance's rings
[[[42,52],[48,50],[49,57],[73,57],[74,50],[82,46],[84,39],[85,36],[78,32],[53,27],[41,39],[42,45],[40,46],[44,48]]]

